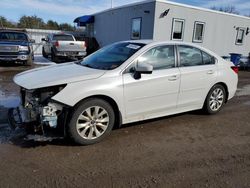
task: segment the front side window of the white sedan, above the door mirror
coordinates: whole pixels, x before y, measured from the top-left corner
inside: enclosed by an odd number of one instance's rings
[[[169,69],[175,67],[174,46],[158,46],[150,49],[138,58],[138,63],[148,63],[153,70]]]

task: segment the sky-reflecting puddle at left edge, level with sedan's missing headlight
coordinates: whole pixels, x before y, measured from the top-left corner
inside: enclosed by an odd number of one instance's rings
[[[16,107],[20,104],[20,97],[14,93],[7,94],[0,90],[0,106],[5,108]]]

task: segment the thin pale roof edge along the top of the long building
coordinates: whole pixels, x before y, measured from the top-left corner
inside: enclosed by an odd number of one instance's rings
[[[211,13],[216,13],[216,14],[221,14],[221,15],[228,15],[228,16],[239,17],[239,18],[244,18],[244,19],[249,19],[250,20],[250,17],[246,17],[246,16],[242,16],[242,15],[237,15],[237,14],[232,14],[232,13],[227,13],[227,12],[221,12],[221,11],[211,10],[211,9],[208,9],[208,8],[201,8],[201,7],[197,7],[197,6],[192,6],[192,5],[182,4],[182,3],[176,3],[176,2],[167,1],[167,0],[145,0],[145,1],[141,1],[141,2],[136,2],[136,3],[131,3],[131,4],[126,4],[126,5],[114,7],[114,8],[109,8],[109,9],[94,13],[93,15],[108,12],[108,11],[111,11],[111,10],[117,10],[117,9],[136,6],[136,5],[143,5],[143,4],[152,3],[152,2],[160,2],[160,3],[169,4],[169,5],[186,7],[186,8],[191,8],[191,9],[195,9],[195,10],[201,10],[201,11],[205,11],[205,12],[211,12]]]

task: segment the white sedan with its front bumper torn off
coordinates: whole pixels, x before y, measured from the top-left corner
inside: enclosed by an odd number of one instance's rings
[[[11,110],[20,115],[10,122],[42,133],[57,128],[76,143],[94,144],[115,124],[219,112],[236,92],[237,72],[232,62],[193,44],[118,42],[82,61],[16,75],[22,105]]]

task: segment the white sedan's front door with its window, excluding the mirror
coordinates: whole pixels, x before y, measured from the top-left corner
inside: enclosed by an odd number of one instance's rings
[[[176,67],[174,46],[158,46],[148,50],[135,63],[153,66],[152,74],[134,78],[133,71],[123,74],[126,119],[143,120],[176,110],[180,71]],[[133,70],[133,65],[131,70]]]

